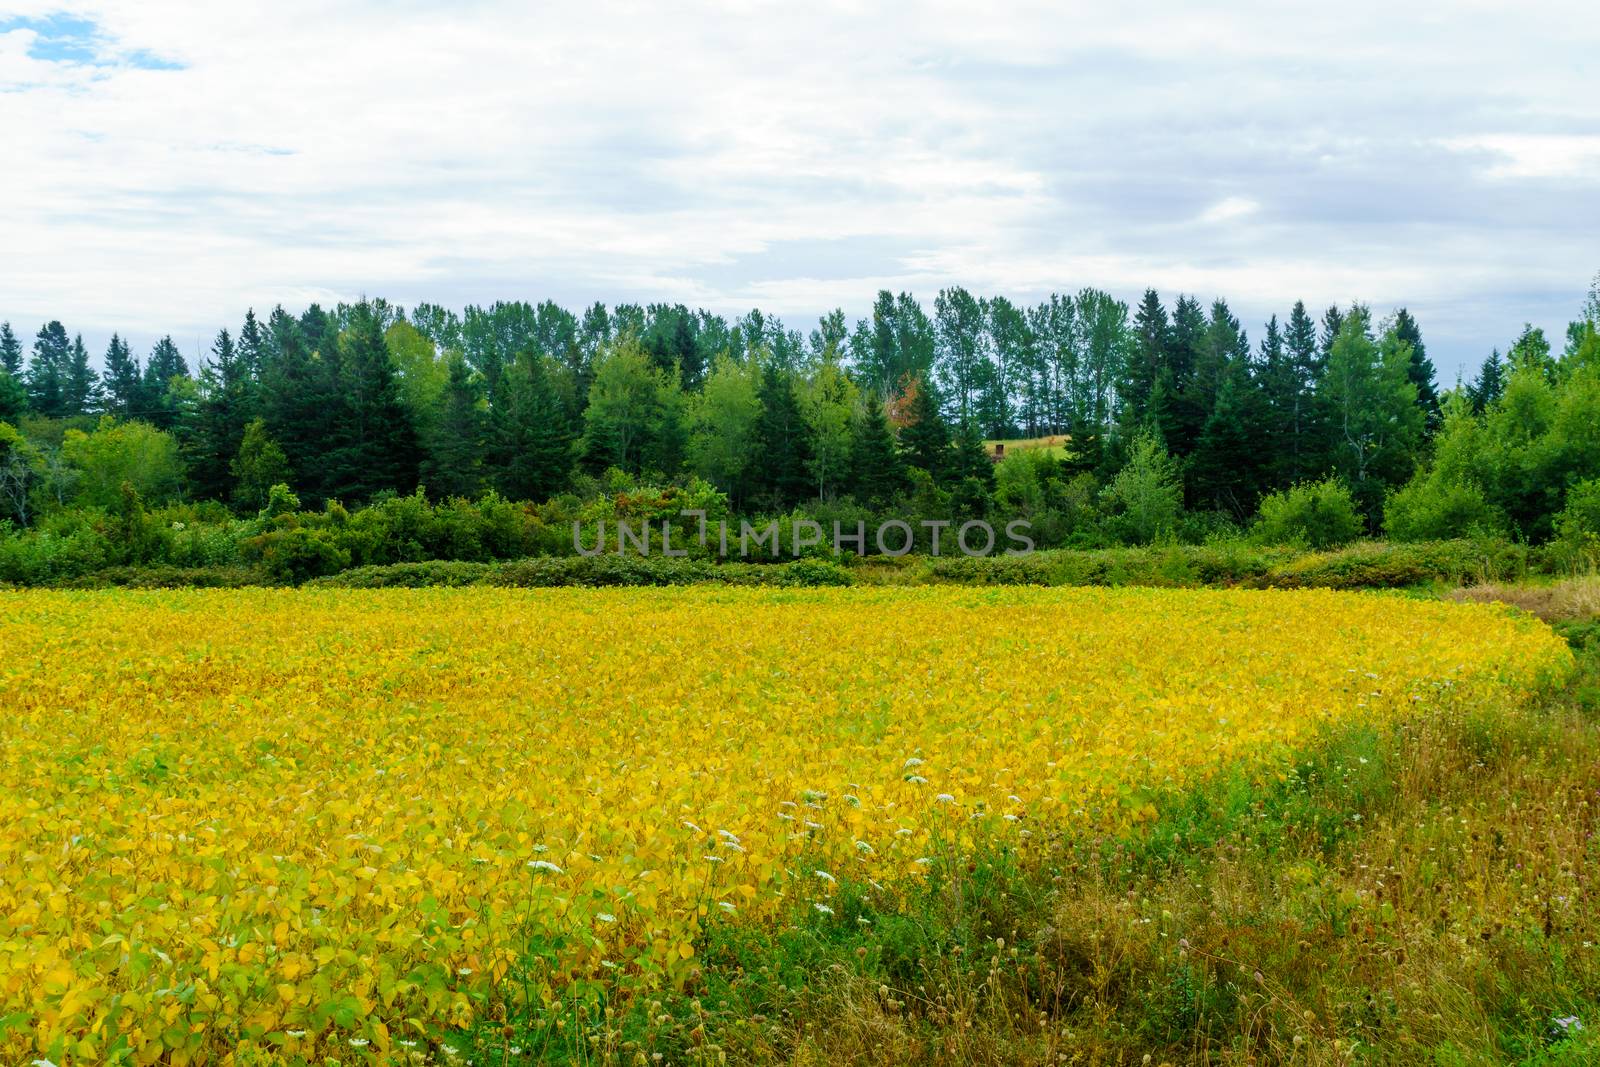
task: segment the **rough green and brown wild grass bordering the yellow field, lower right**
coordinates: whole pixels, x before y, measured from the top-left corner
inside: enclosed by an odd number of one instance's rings
[[[1531,705],[1330,737],[1290,781],[1221,782],[1138,838],[942,856],[907,891],[842,886],[832,915],[714,923],[686,989],[646,1003],[590,990],[462,1035],[462,1051],[478,1064],[1600,1062],[1600,641],[1578,614],[1590,601],[1560,597],[1566,614],[1550,617],[1579,645],[1579,672]]]

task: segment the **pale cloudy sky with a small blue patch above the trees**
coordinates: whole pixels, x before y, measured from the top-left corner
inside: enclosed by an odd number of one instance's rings
[[[1600,272],[1590,3],[0,0],[0,318],[194,355],[366,296],[880,288],[1418,317],[1445,384]],[[1414,8],[1414,10],[1413,10]]]

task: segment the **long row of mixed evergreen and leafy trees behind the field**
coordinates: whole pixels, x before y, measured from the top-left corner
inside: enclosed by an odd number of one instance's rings
[[[1590,294],[1558,352],[1528,326],[1448,390],[1405,307],[1378,318],[1363,304],[1312,315],[1296,302],[1251,339],[1227,301],[1166,304],[1154,290],[1131,309],[1093,288],[1021,306],[957,286],[931,309],[883,291],[867,317],[834,310],[808,334],[760,310],[730,322],[682,304],[458,314],[363,299],[250,310],[195,365],[171,338],[141,360],[114,334],[99,370],[59,322],[27,352],[3,323],[13,443],[0,485],[13,525],[50,501],[93,502],[66,485],[83,477],[72,458],[115,432],[99,448],[126,453],[123,469],[166,462],[163,494],[240,514],[280,483],[315,506],[418,486],[547,501],[621,472],[702,478],[744,514],[933,496],[982,515],[1022,498],[1061,510],[1133,466],[1182,509],[1232,523],[1331,477],[1378,528],[1386,501],[1434,477],[1435,438],[1490,419],[1517,373],[1558,392],[1594,362],[1597,320]],[[1010,478],[986,443],[1046,435],[1062,446],[1018,459],[1032,467]],[[1558,510],[1494,504],[1483,470],[1458,482],[1530,531]]]

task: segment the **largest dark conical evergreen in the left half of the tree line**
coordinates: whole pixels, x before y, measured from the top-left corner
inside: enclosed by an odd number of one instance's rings
[[[382,491],[410,493],[418,477],[416,430],[379,309],[370,301],[355,304],[336,349],[339,403],[326,458],[331,496],[362,501]]]

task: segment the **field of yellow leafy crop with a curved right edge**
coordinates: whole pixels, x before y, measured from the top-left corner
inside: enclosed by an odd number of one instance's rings
[[[421,1054],[1570,662],[1475,605],[936,587],[0,593],[0,1061],[56,1064]]]

